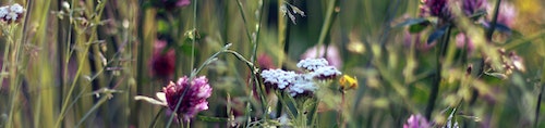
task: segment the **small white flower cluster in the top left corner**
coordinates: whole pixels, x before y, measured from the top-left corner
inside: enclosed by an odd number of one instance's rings
[[[16,22],[23,16],[25,9],[21,4],[0,7],[0,20],[9,23]]]

